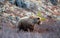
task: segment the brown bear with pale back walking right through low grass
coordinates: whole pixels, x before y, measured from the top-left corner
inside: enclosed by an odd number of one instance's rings
[[[34,25],[40,24],[40,18],[38,17],[29,17],[29,18],[24,18],[21,19],[18,23],[18,30],[23,30],[23,31],[29,31],[32,32],[34,30]]]

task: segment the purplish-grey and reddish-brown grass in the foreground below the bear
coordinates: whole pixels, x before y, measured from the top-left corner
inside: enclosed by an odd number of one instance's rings
[[[9,28],[7,23],[2,23],[3,29],[0,30],[0,38],[60,38],[60,26],[43,24],[35,28],[36,32],[17,33],[17,28]],[[46,29],[48,28],[48,29]],[[54,30],[54,31],[52,31]],[[38,33],[39,32],[39,33]]]

